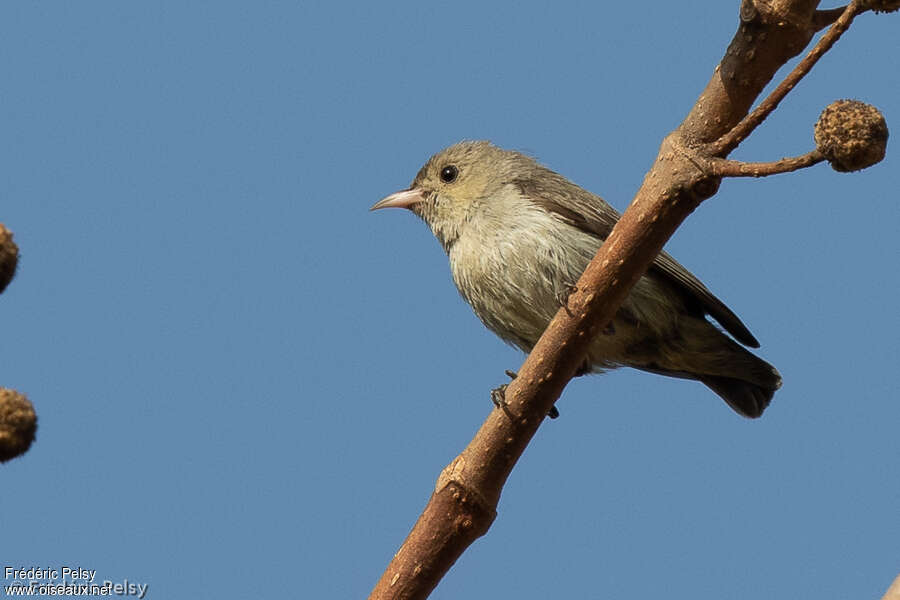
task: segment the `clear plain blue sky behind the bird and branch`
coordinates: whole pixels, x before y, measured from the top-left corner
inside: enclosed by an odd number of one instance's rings
[[[425,226],[369,213],[491,139],[623,209],[738,2],[0,4],[4,566],[150,598],[359,598],[522,355]],[[897,15],[866,15],[735,155],[829,102],[900,124]],[[900,152],[726,181],[667,248],[784,388],[572,382],[433,598],[877,598],[900,572]]]

